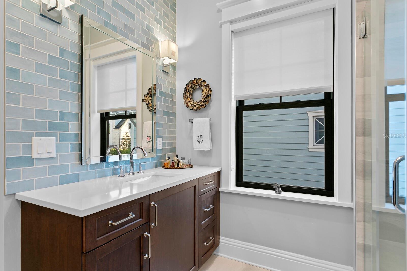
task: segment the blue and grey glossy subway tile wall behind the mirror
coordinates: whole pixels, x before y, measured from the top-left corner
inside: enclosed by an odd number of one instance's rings
[[[76,0],[62,24],[39,15],[38,0],[6,0],[6,193],[118,173],[118,162],[81,165],[81,15],[159,55],[176,42],[176,0]],[[144,168],[175,155],[175,77],[157,64],[157,137],[163,149]],[[56,138],[56,157],[31,157],[31,138]],[[128,161],[120,162],[125,172]]]

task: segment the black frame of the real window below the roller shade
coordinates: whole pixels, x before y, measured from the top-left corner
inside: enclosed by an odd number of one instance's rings
[[[309,188],[302,186],[288,186],[280,184],[282,191],[294,192],[310,195],[320,195],[326,197],[335,196],[335,176],[334,176],[334,95],[333,92],[325,92],[324,99],[311,101],[283,102],[282,96],[279,103],[265,103],[256,105],[245,105],[244,100],[236,101],[236,186],[245,188],[257,188],[265,190],[274,190],[274,184],[262,184],[257,182],[243,181],[243,112],[285,109],[300,107],[324,107],[325,118],[325,188]]]

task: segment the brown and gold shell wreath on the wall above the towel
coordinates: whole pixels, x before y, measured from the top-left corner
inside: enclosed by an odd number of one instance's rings
[[[202,98],[199,101],[194,101],[192,99],[192,92],[196,88],[201,88],[202,89]],[[211,98],[211,93],[212,90],[210,89],[209,85],[206,83],[206,81],[202,78],[194,78],[192,80],[189,80],[189,82],[186,84],[186,87],[184,88],[184,105],[188,107],[191,110],[199,110],[204,107],[209,103],[210,98]]]

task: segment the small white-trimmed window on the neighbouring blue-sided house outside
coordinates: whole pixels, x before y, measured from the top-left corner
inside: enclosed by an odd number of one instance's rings
[[[325,117],[324,111],[307,111],[309,119],[309,151],[324,151],[325,149]]]

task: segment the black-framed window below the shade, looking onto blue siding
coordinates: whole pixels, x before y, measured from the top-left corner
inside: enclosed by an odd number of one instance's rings
[[[333,197],[333,121],[332,92],[237,101],[236,186]]]

